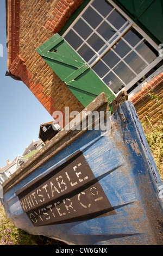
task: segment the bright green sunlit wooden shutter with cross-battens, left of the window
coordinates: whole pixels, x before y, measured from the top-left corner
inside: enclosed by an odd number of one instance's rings
[[[109,103],[115,99],[110,89],[59,34],[53,35],[36,51],[84,107],[102,92]]]

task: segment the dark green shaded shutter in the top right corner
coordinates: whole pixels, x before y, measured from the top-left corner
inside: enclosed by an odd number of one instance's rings
[[[163,42],[163,0],[113,0],[156,44]]]

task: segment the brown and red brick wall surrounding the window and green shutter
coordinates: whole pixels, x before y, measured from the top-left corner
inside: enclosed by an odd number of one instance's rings
[[[55,110],[82,111],[83,105],[35,51],[64,27],[84,0],[8,0],[8,68],[21,78],[52,115]],[[131,97],[137,112],[142,99],[163,81],[163,72]]]

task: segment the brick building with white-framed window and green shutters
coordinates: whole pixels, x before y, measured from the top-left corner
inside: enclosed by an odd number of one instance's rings
[[[6,0],[6,6],[7,74],[51,115],[65,106],[80,112],[101,92],[111,102],[122,89],[140,118],[154,111],[148,95],[155,90],[161,97],[163,81],[161,0]],[[152,114],[156,123],[161,112]]]

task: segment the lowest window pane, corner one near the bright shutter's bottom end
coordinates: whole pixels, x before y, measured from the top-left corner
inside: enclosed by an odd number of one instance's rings
[[[123,87],[123,83],[114,75],[114,73],[110,72],[103,81],[113,90],[114,93],[118,93]]]

